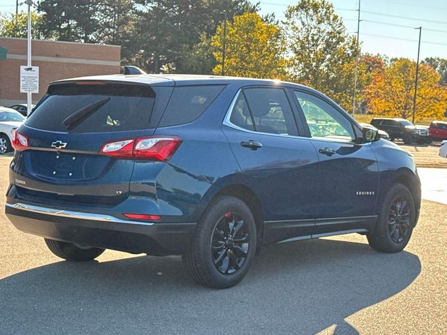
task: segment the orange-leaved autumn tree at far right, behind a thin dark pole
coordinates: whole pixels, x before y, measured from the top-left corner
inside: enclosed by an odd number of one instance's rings
[[[387,117],[410,118],[413,113],[416,63],[398,59],[383,70],[374,71],[365,90],[369,112]],[[447,89],[439,84],[434,68],[420,64],[416,117],[441,118],[447,106]]]

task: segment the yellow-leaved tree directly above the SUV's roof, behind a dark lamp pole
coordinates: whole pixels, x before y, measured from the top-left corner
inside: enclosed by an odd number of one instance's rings
[[[221,74],[223,24],[212,36],[214,74]],[[226,75],[240,77],[274,78],[284,76],[284,40],[275,24],[266,23],[256,13],[245,13],[227,24]]]

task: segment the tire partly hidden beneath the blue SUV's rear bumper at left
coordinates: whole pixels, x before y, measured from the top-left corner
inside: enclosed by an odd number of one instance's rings
[[[80,248],[78,246],[75,246],[75,244],[54,241],[53,239],[45,239],[45,244],[47,244],[47,247],[52,253],[54,253],[54,255],[72,262],[85,262],[87,260],[94,260],[105,251],[105,249],[93,247]]]

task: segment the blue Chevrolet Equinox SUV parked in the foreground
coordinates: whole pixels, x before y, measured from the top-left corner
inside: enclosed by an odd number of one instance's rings
[[[239,283],[263,245],[357,232],[402,251],[410,154],[323,94],[277,80],[108,75],[52,82],[15,132],[6,215],[71,261],[182,255]]]

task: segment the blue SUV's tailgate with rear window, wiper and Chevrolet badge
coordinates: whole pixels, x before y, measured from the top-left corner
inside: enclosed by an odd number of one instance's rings
[[[152,135],[151,117],[166,105],[170,91],[117,82],[50,86],[19,129],[29,144],[13,163],[20,198],[73,205],[124,200],[133,161],[98,152],[105,142]]]

